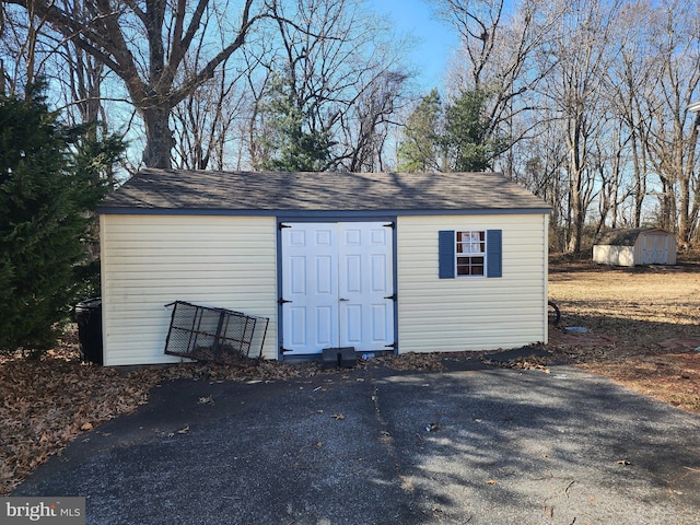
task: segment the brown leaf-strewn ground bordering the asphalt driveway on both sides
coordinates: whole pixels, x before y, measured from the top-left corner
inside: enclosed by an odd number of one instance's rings
[[[555,361],[573,363],[700,413],[700,250],[679,261],[630,269],[552,257],[549,296],[561,322],[550,326],[551,355],[506,365],[548,372]],[[567,331],[572,327],[586,331]],[[39,360],[0,358],[0,495],[100,422],[136,410],[168,378],[275,381],[342,373],[276,361],[253,369],[190,364],[120,371],[79,358],[74,328]],[[360,365],[440,370],[447,359],[459,355],[402,354]],[[464,359],[474,359],[474,352]]]

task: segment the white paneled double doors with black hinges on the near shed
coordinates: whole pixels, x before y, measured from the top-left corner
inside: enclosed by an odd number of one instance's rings
[[[392,348],[392,232],[383,222],[283,224],[285,355]]]

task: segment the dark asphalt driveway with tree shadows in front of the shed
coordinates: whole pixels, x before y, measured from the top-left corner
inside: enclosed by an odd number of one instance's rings
[[[569,366],[175,381],[13,495],[89,524],[700,524],[700,418]]]

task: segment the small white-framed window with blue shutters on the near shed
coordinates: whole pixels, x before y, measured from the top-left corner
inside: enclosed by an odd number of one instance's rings
[[[438,235],[440,279],[502,277],[501,230],[441,230]]]

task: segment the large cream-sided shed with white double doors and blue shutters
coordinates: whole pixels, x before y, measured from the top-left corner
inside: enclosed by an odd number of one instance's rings
[[[166,363],[187,301],[266,359],[547,341],[549,207],[495,173],[143,170],[98,208],[105,365]]]

